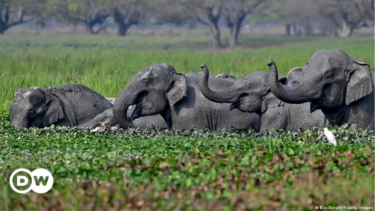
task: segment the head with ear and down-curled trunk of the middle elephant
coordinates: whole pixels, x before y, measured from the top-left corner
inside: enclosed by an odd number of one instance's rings
[[[168,63],[153,63],[135,75],[129,85],[118,94],[113,107],[113,116],[121,128],[129,127],[141,116],[160,114],[167,121],[168,110],[186,96],[185,75],[179,74]],[[136,105],[130,120],[127,108]]]

